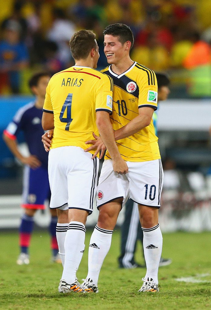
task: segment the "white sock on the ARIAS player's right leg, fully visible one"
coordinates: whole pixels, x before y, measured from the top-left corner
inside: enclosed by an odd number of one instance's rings
[[[62,279],[68,284],[76,280],[76,272],[85,249],[86,228],[81,222],[70,222],[64,241],[65,260]]]

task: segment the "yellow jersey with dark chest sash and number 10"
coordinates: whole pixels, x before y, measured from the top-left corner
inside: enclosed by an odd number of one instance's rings
[[[113,108],[110,116],[114,130],[125,126],[138,116],[138,108],[157,109],[157,80],[155,73],[145,66],[134,62],[124,73],[117,75],[112,66],[102,70],[112,77]],[[116,141],[121,157],[129,162],[145,162],[160,158],[158,138],[153,121],[136,134]],[[105,159],[111,158],[108,151]]]

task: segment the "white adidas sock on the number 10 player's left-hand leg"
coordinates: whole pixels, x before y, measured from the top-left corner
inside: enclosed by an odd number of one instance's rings
[[[97,286],[100,269],[111,246],[113,230],[99,228],[97,225],[90,238],[88,255],[88,275]]]

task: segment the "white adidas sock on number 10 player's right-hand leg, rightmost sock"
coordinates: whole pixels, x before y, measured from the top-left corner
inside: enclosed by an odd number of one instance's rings
[[[143,248],[144,257],[147,265],[145,279],[158,284],[158,267],[162,252],[163,237],[159,224],[152,228],[143,228]]]

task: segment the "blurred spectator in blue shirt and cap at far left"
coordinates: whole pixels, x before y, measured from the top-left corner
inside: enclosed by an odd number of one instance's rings
[[[28,50],[20,41],[21,27],[16,20],[7,20],[0,41],[0,93],[20,91],[20,72],[29,64]]]

